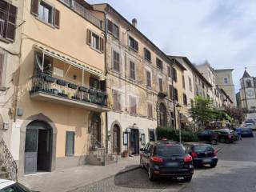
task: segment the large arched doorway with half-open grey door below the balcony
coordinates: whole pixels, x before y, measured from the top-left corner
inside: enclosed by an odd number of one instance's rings
[[[53,130],[43,121],[30,122],[26,126],[25,166],[26,174],[51,170]]]

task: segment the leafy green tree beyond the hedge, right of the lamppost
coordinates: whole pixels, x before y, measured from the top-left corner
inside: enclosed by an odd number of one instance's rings
[[[191,102],[191,108],[188,110],[190,117],[194,122],[203,129],[207,122],[211,122],[215,118],[213,101],[210,98],[202,98],[197,96]]]

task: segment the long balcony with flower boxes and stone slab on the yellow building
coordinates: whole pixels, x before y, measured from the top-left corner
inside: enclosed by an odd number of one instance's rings
[[[96,112],[110,110],[107,107],[107,94],[101,90],[78,86],[47,74],[35,76],[31,81],[32,99],[77,106]]]

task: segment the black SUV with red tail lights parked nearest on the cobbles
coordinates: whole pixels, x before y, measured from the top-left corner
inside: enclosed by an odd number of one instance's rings
[[[160,176],[184,178],[190,182],[194,174],[193,159],[178,142],[149,142],[141,149],[140,166],[146,168],[151,181]]]

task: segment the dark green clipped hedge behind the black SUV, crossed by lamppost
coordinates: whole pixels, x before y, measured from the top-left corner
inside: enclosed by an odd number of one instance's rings
[[[157,128],[158,139],[166,138],[168,140],[179,141],[178,130],[171,128]],[[182,142],[198,142],[198,136],[196,133],[188,130],[182,130]]]

